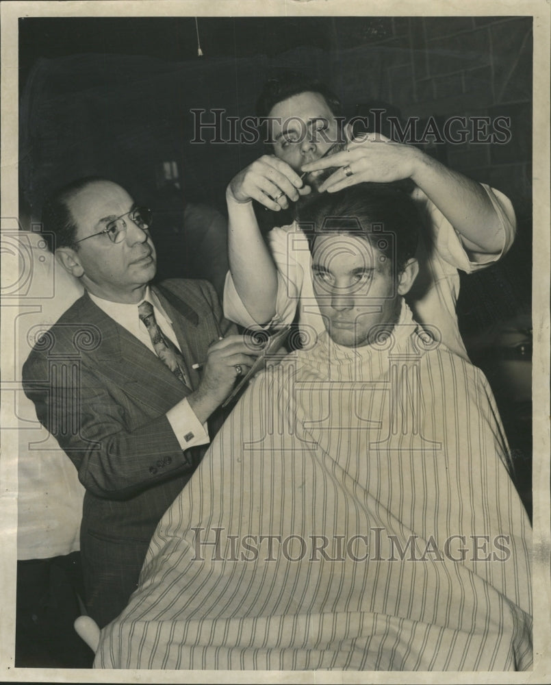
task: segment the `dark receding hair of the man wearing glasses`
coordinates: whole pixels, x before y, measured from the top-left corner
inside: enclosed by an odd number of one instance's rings
[[[105,180],[99,176],[78,178],[56,190],[44,201],[42,206],[42,231],[53,234],[55,238],[54,245],[51,244],[51,240],[47,241],[51,251],[55,251],[58,247],[73,247],[76,249],[75,233],[77,225],[68,208],[68,201],[77,192],[86,188],[86,186]]]

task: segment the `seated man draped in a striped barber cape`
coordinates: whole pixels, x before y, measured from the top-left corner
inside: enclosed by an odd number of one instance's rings
[[[403,300],[415,205],[356,186],[308,220],[326,332],[248,388],[94,664],[527,669],[530,525],[485,377]]]

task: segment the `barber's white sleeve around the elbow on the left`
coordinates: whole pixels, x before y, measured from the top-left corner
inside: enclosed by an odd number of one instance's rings
[[[297,248],[297,244],[301,247]],[[226,275],[224,316],[248,328],[292,323],[303,286],[304,267],[299,263],[303,255],[297,251],[302,250],[305,245],[303,232],[296,225],[274,227],[268,234],[268,245],[277,269],[276,313],[271,321],[261,325],[253,319],[235,288],[231,273],[228,271]]]

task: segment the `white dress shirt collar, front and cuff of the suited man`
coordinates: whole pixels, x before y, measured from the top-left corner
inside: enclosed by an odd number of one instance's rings
[[[180,349],[178,339],[172,328],[172,321],[168,318],[168,314],[166,314],[159,299],[149,286],[146,288],[144,299],[137,304],[112,302],[97,297],[97,295],[92,295],[91,292],[88,294],[90,295],[90,299],[92,299],[107,316],[110,316],[114,321],[125,327],[129,333],[136,336],[138,340],[144,343],[144,345],[157,356],[149,332],[143,321],[140,320],[140,314],[138,312],[138,307],[143,301],[147,300],[148,302],[151,302],[153,305],[153,312],[155,313],[155,320],[157,321],[159,328],[162,330],[163,334],[167,338],[170,338],[172,343]],[[182,399],[172,407],[172,409],[168,410],[168,412],[166,412],[166,418],[182,449],[189,449],[196,445],[206,445],[210,442],[207,423],[201,424],[195,415],[195,412],[190,407],[188,399]]]

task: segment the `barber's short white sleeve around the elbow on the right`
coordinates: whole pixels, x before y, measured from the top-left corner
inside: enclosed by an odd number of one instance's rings
[[[457,232],[435,203],[428,199],[420,188],[413,191],[413,199],[424,206],[431,225],[431,234],[437,253],[454,269],[473,273],[494,264],[509,251],[516,231],[516,219],[513,206],[508,197],[499,190],[480,184],[487,192],[489,200],[500,219],[501,249],[497,253],[474,252],[465,249],[461,234]]]

